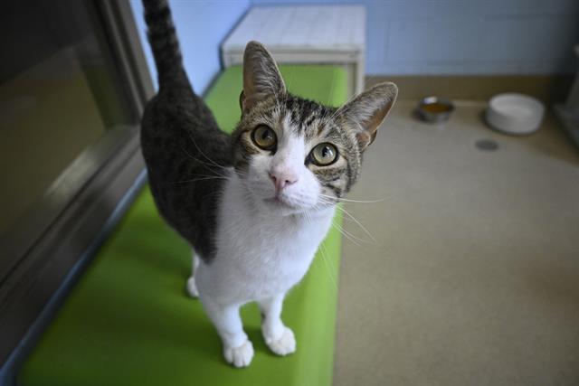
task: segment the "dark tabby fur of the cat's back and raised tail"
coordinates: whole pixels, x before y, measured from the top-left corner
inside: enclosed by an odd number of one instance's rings
[[[206,261],[214,259],[223,170],[231,137],[187,80],[166,0],[144,0],[159,90],[141,122],[141,149],[158,211]]]

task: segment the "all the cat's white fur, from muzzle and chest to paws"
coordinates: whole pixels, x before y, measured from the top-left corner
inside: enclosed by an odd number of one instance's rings
[[[236,367],[249,365],[253,356],[239,316],[248,302],[261,307],[261,331],[271,351],[295,351],[294,334],[280,319],[283,298],[308,271],[334,214],[333,206],[318,208],[321,189],[304,165],[303,138],[278,137],[276,154],[255,155],[246,177],[231,172],[219,208],[216,256],[209,264],[196,260],[195,278],[187,282],[223,340],[225,360]],[[277,200],[271,173],[297,177]]]

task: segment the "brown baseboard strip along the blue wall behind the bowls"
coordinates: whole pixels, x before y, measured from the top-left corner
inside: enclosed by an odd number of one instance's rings
[[[564,101],[573,75],[416,75],[366,76],[366,88],[382,81],[394,81],[398,99],[421,99],[429,95],[447,99],[488,100],[502,92],[519,92],[550,105]]]

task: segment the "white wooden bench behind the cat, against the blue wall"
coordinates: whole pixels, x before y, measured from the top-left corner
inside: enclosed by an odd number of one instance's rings
[[[364,6],[253,7],[223,42],[223,65],[242,64],[245,44],[252,40],[265,44],[279,63],[343,66],[350,95],[364,89]]]

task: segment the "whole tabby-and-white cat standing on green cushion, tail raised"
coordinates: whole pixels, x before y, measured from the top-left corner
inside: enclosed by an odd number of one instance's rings
[[[308,271],[398,90],[384,82],[341,108],[323,106],[290,94],[271,54],[249,42],[241,118],[227,135],[187,80],[166,0],[143,3],[159,88],[141,146],[158,212],[195,249],[186,288],[213,322],[226,362],[252,362],[239,315],[249,302],[260,306],[271,351],[294,353],[283,299]]]

